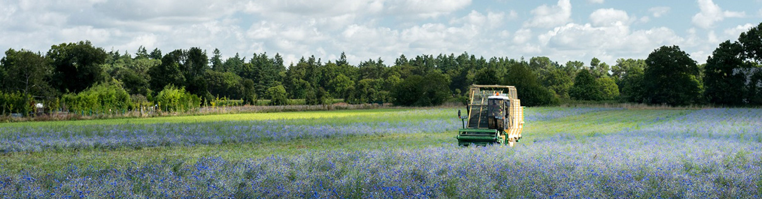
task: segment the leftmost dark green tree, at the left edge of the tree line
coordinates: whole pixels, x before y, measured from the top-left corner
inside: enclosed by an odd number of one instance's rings
[[[40,53],[29,50],[8,50],[5,57],[0,59],[0,68],[7,75],[5,88],[9,91],[21,91],[24,95],[53,96],[53,89],[47,81],[53,74],[50,60]]]

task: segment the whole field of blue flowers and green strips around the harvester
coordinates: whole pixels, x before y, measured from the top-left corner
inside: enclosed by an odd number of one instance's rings
[[[760,109],[525,111],[512,148],[447,108],[0,124],[0,197],[762,197]]]

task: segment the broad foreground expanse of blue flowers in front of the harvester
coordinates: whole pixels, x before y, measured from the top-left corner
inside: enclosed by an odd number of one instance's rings
[[[758,133],[759,117],[762,111],[755,109],[693,111],[606,136],[557,136],[514,148],[440,146],[30,170],[0,174],[0,197],[754,198],[762,197],[762,144],[738,138]],[[726,136],[706,136],[719,129]]]

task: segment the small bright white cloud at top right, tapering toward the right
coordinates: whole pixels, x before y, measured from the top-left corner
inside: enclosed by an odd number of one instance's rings
[[[725,18],[742,18],[746,15],[743,11],[723,11],[712,0],[698,0],[698,2],[701,11],[693,15],[693,24],[705,29],[714,27],[716,22]]]

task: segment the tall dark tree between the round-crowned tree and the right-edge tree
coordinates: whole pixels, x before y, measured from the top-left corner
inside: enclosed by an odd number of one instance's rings
[[[706,59],[704,68],[704,96],[712,104],[744,104],[746,75],[739,69],[747,68],[748,63],[741,58],[744,50],[740,43],[729,40],[720,43],[712,56]]]

